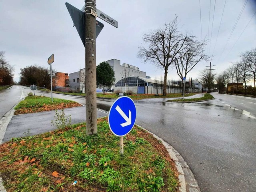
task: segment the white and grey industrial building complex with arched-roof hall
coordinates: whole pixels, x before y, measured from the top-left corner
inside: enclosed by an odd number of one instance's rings
[[[115,72],[115,84],[111,88],[114,92],[128,92],[139,94],[162,94],[163,92],[163,81],[152,80],[149,76],[146,76],[146,72],[140,71],[138,67],[132,66],[130,64],[123,63],[121,65],[120,60],[111,59],[107,60],[108,64],[112,67]],[[78,77],[79,75],[79,77]],[[181,81],[172,80],[172,82],[167,82],[167,93],[181,93],[182,86]],[[200,83],[198,80],[193,81],[192,89],[200,89]],[[79,84],[79,88],[78,88]],[[190,84],[190,81],[186,82]],[[82,90],[85,92],[85,68],[80,69],[78,72],[70,74],[70,86],[74,90]],[[97,88],[97,92],[101,92],[102,88]],[[78,91],[79,92],[79,91]],[[190,90],[192,92],[192,90]]]

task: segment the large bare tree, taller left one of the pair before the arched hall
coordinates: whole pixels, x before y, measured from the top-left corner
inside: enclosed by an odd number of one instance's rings
[[[176,55],[188,46],[189,37],[178,31],[176,17],[169,24],[165,24],[163,29],[144,34],[143,40],[148,47],[139,47],[138,58],[143,59],[144,62],[153,62],[156,66],[164,69],[163,95],[166,96],[168,68],[174,66]]]

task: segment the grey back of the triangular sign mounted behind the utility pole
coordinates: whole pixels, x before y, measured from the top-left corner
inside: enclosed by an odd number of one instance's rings
[[[74,23],[73,26],[76,27],[76,30],[80,36],[80,39],[82,40],[82,43],[85,47],[85,14],[83,11],[79,10],[78,8],[70,5],[69,3],[65,3],[66,7],[68,9],[68,12],[71,16],[71,19]],[[96,20],[96,38],[100,34],[101,30],[103,29],[104,24]]]

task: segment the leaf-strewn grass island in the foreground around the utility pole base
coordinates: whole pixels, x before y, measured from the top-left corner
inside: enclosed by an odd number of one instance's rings
[[[124,137],[98,119],[98,134],[86,136],[86,124],[0,145],[0,172],[12,191],[178,191],[178,172],[166,148],[134,126]],[[73,185],[74,181],[77,181]]]

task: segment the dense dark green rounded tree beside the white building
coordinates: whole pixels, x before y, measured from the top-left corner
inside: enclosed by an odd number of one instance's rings
[[[97,84],[103,86],[103,94],[105,94],[105,86],[110,87],[114,84],[115,72],[110,64],[104,61],[96,67],[96,73]]]

